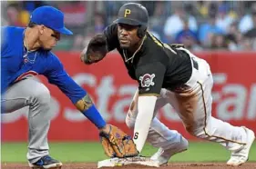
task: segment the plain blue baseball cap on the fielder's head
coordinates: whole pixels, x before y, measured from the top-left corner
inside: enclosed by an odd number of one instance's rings
[[[73,35],[64,25],[64,14],[55,7],[44,5],[37,7],[30,15],[30,22],[36,25],[46,25],[64,35]]]

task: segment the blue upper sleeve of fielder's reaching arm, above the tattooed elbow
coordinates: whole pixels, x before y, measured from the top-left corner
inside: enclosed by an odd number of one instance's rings
[[[87,93],[65,71],[56,55],[53,55],[46,70],[46,77],[50,84],[55,84],[67,97],[76,104]]]

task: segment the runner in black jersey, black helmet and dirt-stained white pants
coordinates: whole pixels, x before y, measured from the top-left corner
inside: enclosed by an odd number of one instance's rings
[[[230,150],[227,164],[245,163],[254,133],[244,126],[233,126],[211,116],[210,65],[183,45],[163,44],[147,31],[147,26],[148,11],[144,6],[122,5],[114,24],[109,25],[103,35],[93,37],[87,50],[81,53],[85,64],[93,64],[117,49],[128,75],[138,81],[138,91],[126,118],[126,124],[134,130],[138,152],[148,140],[159,147],[151,158],[166,164],[173,154],[188,148],[184,137],[155,117],[159,108],[171,104],[189,134]]]

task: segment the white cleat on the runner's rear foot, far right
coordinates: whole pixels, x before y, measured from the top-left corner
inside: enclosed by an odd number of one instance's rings
[[[246,127],[243,128],[247,134],[247,143],[243,145],[243,147],[239,151],[231,153],[230,160],[227,162],[228,165],[238,166],[248,161],[251,144],[255,139],[255,134],[250,129]]]

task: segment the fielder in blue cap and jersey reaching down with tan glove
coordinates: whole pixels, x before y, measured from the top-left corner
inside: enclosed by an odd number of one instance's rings
[[[60,34],[72,35],[72,32],[64,26],[63,13],[52,6],[36,8],[26,28],[1,27],[1,113],[12,113],[29,106],[29,166],[62,166],[61,162],[49,156],[48,151],[47,134],[52,117],[49,111],[50,93],[46,85],[29,78],[33,75],[45,75],[49,83],[55,84],[97,126],[103,147],[108,150],[106,153],[109,156],[138,155],[132,139],[118,127],[106,124],[89,94],[67,75],[59,59],[50,52],[60,40]],[[111,146],[113,144],[114,149]],[[124,152],[123,149],[128,149],[129,152]]]

